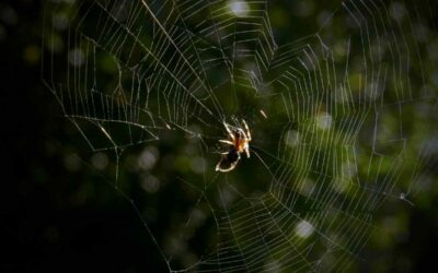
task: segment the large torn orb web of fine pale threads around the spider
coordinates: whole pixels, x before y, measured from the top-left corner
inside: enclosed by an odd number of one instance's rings
[[[169,271],[351,270],[382,204],[415,202],[437,152],[435,7],[337,8],[280,44],[267,1],[48,4],[46,47],[67,51],[43,80],[94,166],[114,155],[113,187]],[[241,119],[251,159],[216,173],[222,122]],[[132,158],[141,183],[120,178]],[[146,209],[162,183],[184,207],[166,236]]]

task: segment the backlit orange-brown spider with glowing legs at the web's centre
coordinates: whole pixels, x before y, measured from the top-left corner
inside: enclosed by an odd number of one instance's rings
[[[223,127],[230,140],[219,140],[219,142],[229,144],[232,147],[228,152],[221,153],[222,157],[216,165],[216,171],[226,173],[235,168],[240,159],[240,154],[243,152],[246,158],[250,158],[251,132],[244,119],[242,119],[242,123],[245,127],[245,131],[242,128],[237,128],[234,131],[231,131],[230,126],[223,121]]]

